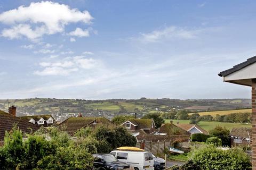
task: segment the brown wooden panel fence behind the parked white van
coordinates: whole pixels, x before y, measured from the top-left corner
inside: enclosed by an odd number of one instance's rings
[[[172,141],[145,141],[137,142],[136,147],[144,149],[145,151],[150,151],[153,154],[163,154],[165,149],[169,149],[172,145]]]

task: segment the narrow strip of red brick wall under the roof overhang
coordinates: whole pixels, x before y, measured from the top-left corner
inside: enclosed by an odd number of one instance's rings
[[[256,170],[256,79],[252,79],[252,169]]]

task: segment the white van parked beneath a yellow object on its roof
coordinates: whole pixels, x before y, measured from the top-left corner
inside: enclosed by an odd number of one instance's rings
[[[134,170],[154,170],[154,160],[151,152],[113,150],[110,154],[114,155],[119,162],[134,167]]]

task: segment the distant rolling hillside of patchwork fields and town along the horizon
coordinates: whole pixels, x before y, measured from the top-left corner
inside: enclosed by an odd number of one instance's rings
[[[142,117],[149,113],[168,113],[174,110],[189,109],[190,112],[233,110],[251,107],[251,99],[1,99],[0,110],[7,112],[8,106],[17,106],[17,116],[52,114],[58,121],[68,116],[105,116],[109,119],[118,114],[137,113]],[[230,111],[228,111],[230,112]],[[244,110],[243,110],[244,112]],[[201,113],[203,114],[203,113]],[[208,113],[207,113],[208,114]],[[214,112],[211,112],[214,114]]]

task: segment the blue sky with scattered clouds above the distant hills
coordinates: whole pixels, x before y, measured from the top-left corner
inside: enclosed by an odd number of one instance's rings
[[[0,98],[250,98],[255,1],[0,2]]]

